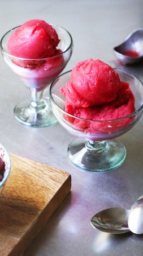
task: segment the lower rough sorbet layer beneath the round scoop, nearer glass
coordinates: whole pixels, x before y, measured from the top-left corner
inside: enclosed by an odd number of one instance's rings
[[[129,89],[129,84],[127,82],[122,82],[122,89],[119,90],[118,96],[112,102],[88,108],[76,108],[66,101],[64,110],[75,117],[83,118],[82,120],[68,116],[66,117],[68,122],[75,125],[76,128],[79,127],[80,130],[83,130],[86,133],[94,133],[94,131],[98,131],[111,134],[132,122],[132,117],[125,119],[118,118],[125,117],[135,112],[135,98]],[[85,119],[91,120],[91,122],[86,121]],[[116,122],[112,121],[115,119],[117,119]],[[97,122],[92,122],[92,120]],[[111,120],[110,124],[106,123],[107,120]]]

